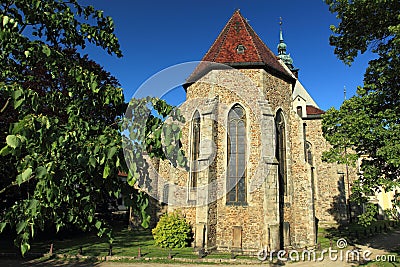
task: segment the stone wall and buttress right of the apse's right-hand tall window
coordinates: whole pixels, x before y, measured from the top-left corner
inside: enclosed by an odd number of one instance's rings
[[[290,245],[304,247],[314,244],[315,224],[311,176],[304,158],[301,120],[292,110],[292,84],[263,75],[267,100],[276,112],[282,109],[286,123],[287,188],[284,196],[284,221],[289,223]]]

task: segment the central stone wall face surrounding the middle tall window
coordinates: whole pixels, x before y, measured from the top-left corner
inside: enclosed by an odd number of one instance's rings
[[[236,71],[234,71],[236,72]],[[247,77],[257,75],[256,71],[241,70]],[[216,179],[218,188],[226,186],[226,144],[227,144],[227,113],[231,106],[235,103],[241,104],[246,110],[247,122],[247,151],[249,152],[247,162],[247,184],[250,184],[251,179],[256,175],[255,171],[259,164],[260,158],[260,124],[258,115],[255,114],[253,103],[257,103],[260,99],[259,88],[254,88],[254,84],[243,83],[243,78],[233,75],[220,75],[217,79],[222,86],[214,86],[210,90],[214,90],[213,94],[219,97],[218,106],[218,124],[216,124],[215,133],[217,135],[216,147],[217,153],[215,157]],[[244,85],[243,85],[244,84]],[[241,91],[239,91],[241,90]],[[236,92],[236,93],[235,93]],[[224,189],[226,191],[226,189]],[[261,247],[261,243],[265,238],[265,230],[260,222],[263,221],[263,197],[262,189],[250,192],[247,186],[247,206],[232,206],[226,204],[226,195],[216,201],[216,248],[219,250],[235,249],[234,244],[234,228],[241,229],[241,247],[243,250],[255,250]],[[236,247],[236,249],[238,249]]]

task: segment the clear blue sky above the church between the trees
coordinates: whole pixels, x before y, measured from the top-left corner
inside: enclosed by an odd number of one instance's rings
[[[82,0],[113,17],[124,57],[109,56],[89,48],[91,58],[120,81],[129,100],[147,79],[172,65],[201,60],[233,12],[242,15],[275,53],[279,42],[279,17],[299,79],[318,105],[338,108],[343,87],[350,97],[363,75],[371,54],[358,57],[351,67],[333,54],[329,26],[337,24],[323,0],[214,0],[133,1]],[[180,93],[181,92],[181,93]],[[176,91],[172,104],[184,100]]]

